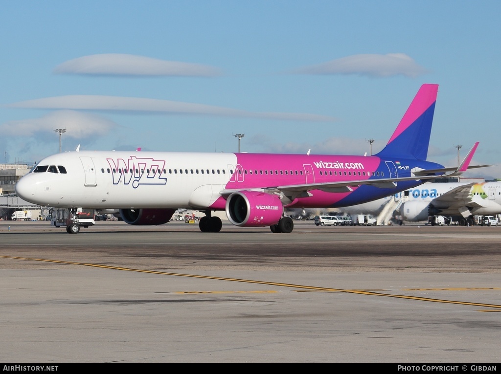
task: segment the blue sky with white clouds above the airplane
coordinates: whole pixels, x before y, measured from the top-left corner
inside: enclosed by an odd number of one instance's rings
[[[364,154],[423,83],[428,160],[501,178],[497,1],[2,2],[0,163],[62,150]]]

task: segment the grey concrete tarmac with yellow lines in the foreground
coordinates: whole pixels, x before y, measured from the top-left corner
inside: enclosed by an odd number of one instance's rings
[[[496,363],[501,227],[0,221],[0,360]]]

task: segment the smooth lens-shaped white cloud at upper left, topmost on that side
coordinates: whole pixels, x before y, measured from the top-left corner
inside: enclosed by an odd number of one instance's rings
[[[55,74],[109,76],[189,76],[215,77],[221,72],[211,66],[165,61],[126,54],[101,54],[66,61],[54,69]]]

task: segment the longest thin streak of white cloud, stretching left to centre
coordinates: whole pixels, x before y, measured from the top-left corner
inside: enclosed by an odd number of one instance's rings
[[[308,113],[260,113],[204,104],[170,100],[127,98],[117,96],[69,95],[22,101],[7,105],[10,108],[72,109],[120,112],[145,112],[183,115],[211,115],[219,117],[261,118],[289,121],[334,121],[328,116]]]

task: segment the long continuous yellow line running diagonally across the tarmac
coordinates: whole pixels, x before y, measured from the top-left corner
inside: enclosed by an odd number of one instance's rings
[[[302,284],[268,282],[268,281],[264,281],[264,280],[226,278],[226,277],[197,275],[197,274],[171,273],[171,272],[167,272],[167,271],[134,269],[134,268],[129,268],[129,267],[92,264],[92,263],[85,263],[85,262],[51,260],[51,259],[45,259],[45,258],[30,258],[30,257],[2,256],[2,255],[0,255],[0,258],[12,258],[12,259],[18,259],[18,260],[42,261],[42,262],[61,263],[61,264],[69,264],[69,265],[80,265],[80,266],[97,267],[97,268],[101,268],[101,269],[133,271],[133,272],[147,273],[147,274],[172,275],[172,276],[183,276],[183,277],[189,277],[189,278],[199,278],[199,279],[213,279],[213,280],[225,280],[225,281],[231,281],[231,282],[266,284],[266,285],[278,286],[278,287],[300,288],[300,289],[305,289],[305,290],[310,290],[310,291],[343,292],[343,293],[352,293],[352,294],[368,295],[368,296],[384,296],[384,297],[393,297],[393,298],[408,299],[408,300],[439,302],[439,303],[445,303],[445,304],[482,306],[482,307],[494,308],[494,309],[498,309],[498,310],[478,310],[478,311],[484,311],[484,312],[486,312],[486,311],[501,311],[501,305],[486,304],[486,303],[471,302],[471,301],[443,300],[443,299],[435,299],[435,298],[421,297],[421,296],[392,295],[389,293],[374,292],[374,291],[307,286],[307,285],[302,285]]]

